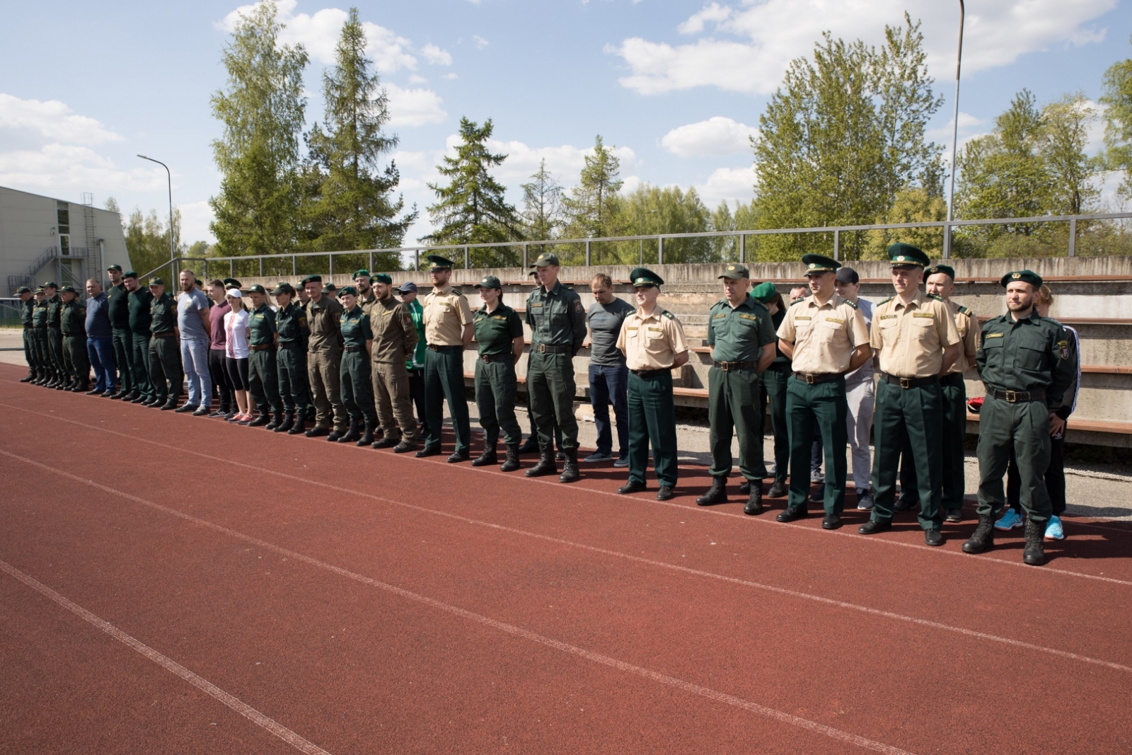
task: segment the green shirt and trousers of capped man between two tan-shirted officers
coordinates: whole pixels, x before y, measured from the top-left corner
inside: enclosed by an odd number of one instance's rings
[[[755,367],[763,348],[775,341],[770,310],[749,295],[738,307],[721,299],[707,315],[707,345],[712,348],[713,362],[707,372],[712,477],[726,478],[731,473],[732,432],[739,436],[743,477],[751,481],[766,477]]]

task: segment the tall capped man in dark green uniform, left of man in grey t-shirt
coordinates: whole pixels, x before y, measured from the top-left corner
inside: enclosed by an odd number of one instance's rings
[[[554,474],[554,423],[563,431],[566,457],[560,482],[578,479],[577,420],[574,418],[574,354],[585,341],[585,308],[582,299],[558,280],[558,257],[549,251],[534,260],[539,285],[526,299],[526,324],[531,326],[531,354],[526,362],[526,389],[539,428],[539,463],[528,477]]]

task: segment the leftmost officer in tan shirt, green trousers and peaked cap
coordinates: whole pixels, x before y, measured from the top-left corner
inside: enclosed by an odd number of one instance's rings
[[[449,284],[452,260],[429,255],[432,290],[424,297],[424,414],[428,437],[424,447],[414,455],[435,456],[440,453],[440,428],[444,427],[444,402],[448,401],[452,427],[456,432],[456,449],[448,463],[471,456],[472,428],[464,394],[464,348],[472,342],[472,308],[463,294]]]

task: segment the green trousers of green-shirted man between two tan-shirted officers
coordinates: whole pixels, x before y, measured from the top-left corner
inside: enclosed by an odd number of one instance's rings
[[[712,477],[731,473],[731,438],[739,437],[739,472],[748,480],[766,477],[763,415],[756,407],[758,374],[754,370],[707,370],[707,443]]]

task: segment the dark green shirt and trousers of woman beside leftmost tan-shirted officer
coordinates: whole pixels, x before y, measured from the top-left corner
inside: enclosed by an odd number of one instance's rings
[[[503,429],[504,443],[517,446],[523,431],[515,419],[515,352],[513,342],[523,337],[518,312],[503,303],[488,311],[487,304],[472,316],[475,332],[475,407],[483,427],[483,443],[495,448]]]

